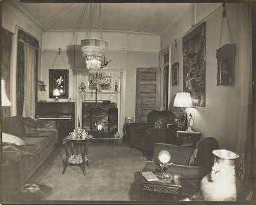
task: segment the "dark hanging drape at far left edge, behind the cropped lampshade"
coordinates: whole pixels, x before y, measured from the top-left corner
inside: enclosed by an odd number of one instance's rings
[[[11,46],[13,40],[13,33],[2,28],[2,60],[1,60],[1,79],[5,80],[5,92],[7,97],[10,99],[10,69],[11,69]],[[9,106],[2,107],[2,117],[11,116],[11,111]]]

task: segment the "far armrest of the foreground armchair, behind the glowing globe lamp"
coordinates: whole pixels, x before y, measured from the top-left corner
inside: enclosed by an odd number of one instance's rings
[[[167,150],[170,152],[172,163],[177,163],[180,165],[188,165],[188,161],[194,149],[189,147],[182,147],[179,145],[172,144],[155,144],[153,151],[153,159],[158,160],[159,152],[162,150]]]

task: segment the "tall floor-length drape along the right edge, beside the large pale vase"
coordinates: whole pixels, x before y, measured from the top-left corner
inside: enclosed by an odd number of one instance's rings
[[[239,87],[239,117],[237,118],[237,144],[235,151],[239,153],[237,175],[244,187],[245,197],[250,199],[253,190],[254,134],[253,114],[255,112],[252,99],[252,67],[251,67],[251,10],[249,4],[239,5],[239,69],[241,77]],[[237,82],[238,83],[238,82]]]

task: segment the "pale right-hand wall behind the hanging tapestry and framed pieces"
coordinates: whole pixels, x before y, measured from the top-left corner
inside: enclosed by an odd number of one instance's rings
[[[200,5],[196,9],[196,16],[198,22],[204,19],[206,15],[216,9],[216,5],[212,7],[208,6],[206,11],[205,5]],[[206,106],[196,106],[194,108],[187,108],[188,112],[192,113],[194,118],[194,129],[202,132],[204,138],[214,137],[218,139],[220,147],[223,149],[235,149],[235,142],[237,139],[237,118],[239,118],[239,97],[241,97],[241,83],[243,82],[242,68],[239,67],[239,30],[241,24],[239,24],[239,5],[228,4],[226,6],[227,15],[229,19],[229,25],[231,29],[231,35],[233,43],[237,45],[237,55],[235,58],[235,84],[233,86],[217,86],[217,59],[216,50],[219,48],[220,38],[220,25],[222,22],[222,7],[217,9],[212,15],[208,16],[204,21],[206,22]],[[185,19],[190,19],[194,11],[188,13]],[[204,17],[202,16],[204,14]],[[184,21],[181,20],[180,24]],[[241,22],[241,21],[240,21]],[[173,34],[164,34],[161,36],[162,48],[168,46],[169,42],[174,42],[174,39],[178,38],[178,31],[180,36],[184,33],[184,28],[188,27],[189,23],[184,22],[184,27],[180,24],[174,26],[172,30],[175,30]],[[192,21],[190,21],[192,25]],[[180,29],[182,28],[182,29]],[[224,21],[222,42],[223,44],[229,44],[229,35],[227,30],[226,21]],[[174,43],[172,43],[172,52],[174,50]],[[172,107],[173,100],[177,91],[183,91],[183,56],[182,56],[182,38],[178,38],[178,56],[179,56],[179,84],[178,86],[170,85],[170,97],[169,106],[170,110],[174,110],[177,113],[176,108]]]

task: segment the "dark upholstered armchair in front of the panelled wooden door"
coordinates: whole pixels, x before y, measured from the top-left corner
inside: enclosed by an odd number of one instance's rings
[[[149,112],[148,122],[129,124],[129,143],[132,147],[143,151],[152,151],[155,143],[171,143],[168,138],[166,124],[174,123],[176,115],[169,110]]]

